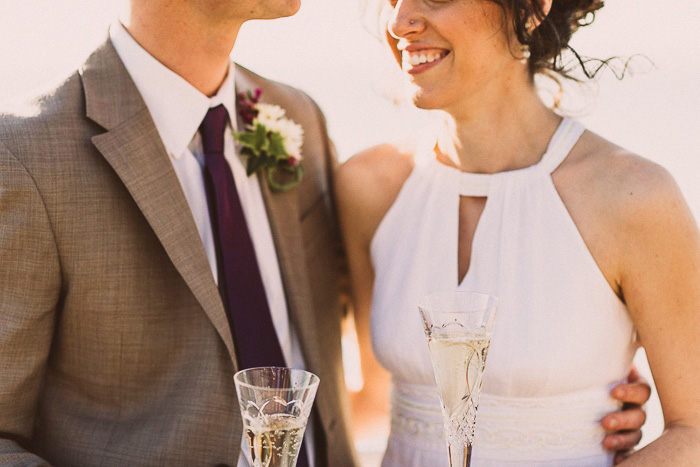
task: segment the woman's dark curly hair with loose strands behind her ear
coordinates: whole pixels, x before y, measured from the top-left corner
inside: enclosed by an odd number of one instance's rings
[[[604,67],[610,67],[618,78],[624,74],[624,69],[618,74],[612,67],[610,62],[613,59],[584,58],[569,45],[569,40],[576,30],[593,23],[595,12],[604,6],[603,0],[553,0],[547,14],[537,0],[490,1],[503,9],[504,18],[506,21],[510,20],[518,41],[528,46],[530,76],[542,73],[579,81],[572,74],[577,68],[576,65],[580,65],[581,71],[589,79],[594,78]],[[533,20],[537,25],[534,29],[532,26],[528,27]],[[566,51],[574,57],[573,66],[571,61],[564,59]]]

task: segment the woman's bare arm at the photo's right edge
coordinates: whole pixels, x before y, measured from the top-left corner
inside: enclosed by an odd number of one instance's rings
[[[700,465],[700,234],[680,190],[634,156],[617,189],[619,284],[664,413],[661,437],[621,465]]]

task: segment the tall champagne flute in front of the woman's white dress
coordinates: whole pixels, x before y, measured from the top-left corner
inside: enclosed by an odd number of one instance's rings
[[[468,467],[498,300],[475,292],[429,295],[418,304],[440,394],[450,467]]]

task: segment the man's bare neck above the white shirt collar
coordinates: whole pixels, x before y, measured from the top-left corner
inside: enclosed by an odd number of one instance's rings
[[[132,9],[122,21],[129,34],[163,65],[203,94],[216,94],[226,78],[229,55],[242,25],[205,24],[197,14],[177,8]]]

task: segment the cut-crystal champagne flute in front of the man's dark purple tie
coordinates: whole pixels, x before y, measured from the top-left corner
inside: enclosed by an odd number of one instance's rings
[[[253,467],[294,467],[318,389],[318,376],[280,367],[233,376]]]

